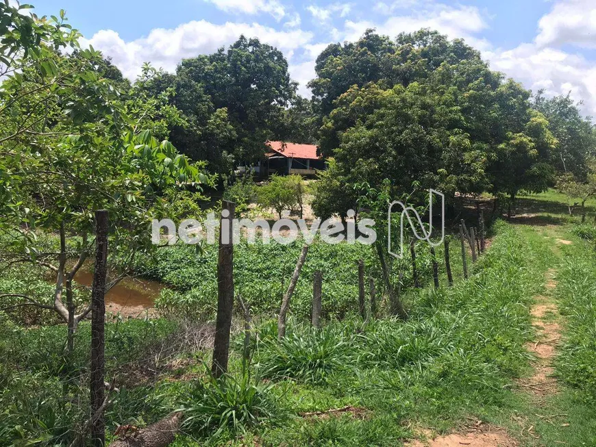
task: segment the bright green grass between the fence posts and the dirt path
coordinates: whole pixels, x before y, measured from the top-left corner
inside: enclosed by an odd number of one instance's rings
[[[410,296],[406,323],[350,319],[332,322],[318,335],[290,324],[282,344],[265,324],[258,332],[256,368],[273,380],[272,392],[295,416],[282,426],[257,429],[259,442],[396,445],[412,435],[410,423],[447,431],[464,416],[491,418],[510,409],[510,380],[527,368],[528,308],[550,261],[545,248],[541,238],[528,240],[499,224],[475,275],[454,288]],[[346,405],[364,416],[297,416]]]

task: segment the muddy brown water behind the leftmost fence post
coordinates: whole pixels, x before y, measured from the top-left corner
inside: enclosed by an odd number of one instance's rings
[[[93,274],[82,268],[75,275],[75,281],[91,287]],[[156,281],[139,278],[125,278],[105,294],[105,311],[133,318],[144,318],[155,314],[153,304],[164,286]]]

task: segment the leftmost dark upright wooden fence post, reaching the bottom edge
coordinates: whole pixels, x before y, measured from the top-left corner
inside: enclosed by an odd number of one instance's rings
[[[95,212],[95,266],[91,289],[90,404],[91,439],[95,447],[105,444],[105,419],[101,410],[105,389],[105,277],[108,274],[108,212]],[[99,414],[97,414],[99,412]]]

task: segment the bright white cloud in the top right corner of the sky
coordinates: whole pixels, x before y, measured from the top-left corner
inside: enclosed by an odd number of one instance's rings
[[[576,44],[596,48],[596,2],[560,1],[540,19],[538,29],[540,32],[536,36],[536,44],[540,47]]]

